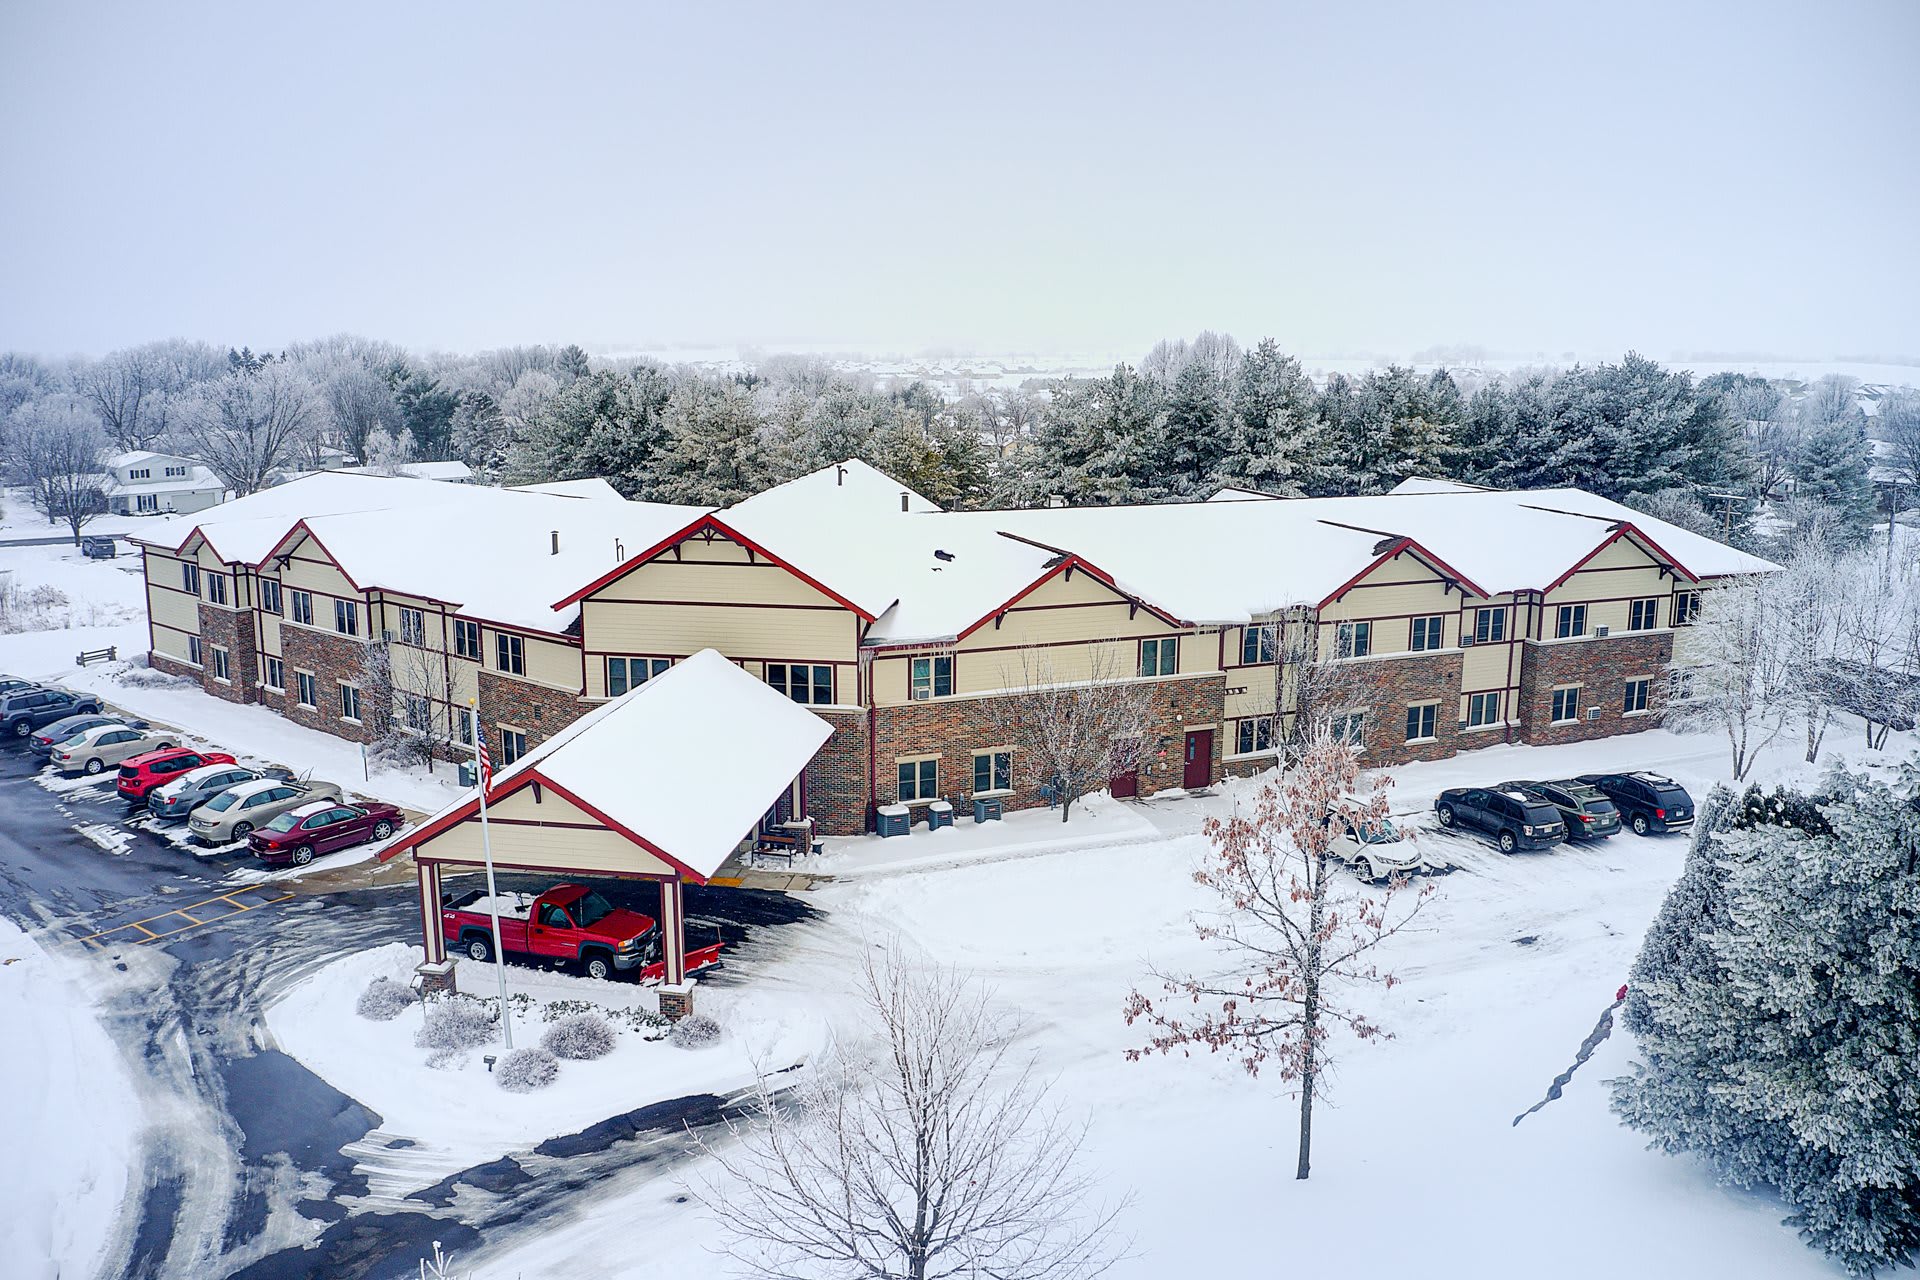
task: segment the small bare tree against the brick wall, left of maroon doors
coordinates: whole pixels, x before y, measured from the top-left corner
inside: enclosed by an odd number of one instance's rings
[[[1014,768],[1060,796],[1060,821],[1073,802],[1139,768],[1150,710],[1146,687],[1121,672],[1117,641],[1089,645],[1085,676],[1056,672],[1052,652],[1025,649],[1010,676],[1002,727],[1014,743]]]

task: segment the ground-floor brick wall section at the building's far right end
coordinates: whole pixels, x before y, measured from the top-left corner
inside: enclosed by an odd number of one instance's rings
[[[1615,733],[1653,729],[1661,722],[1667,664],[1674,656],[1672,631],[1644,631],[1582,641],[1526,641],[1521,647],[1521,693],[1515,718],[1523,743],[1586,743]],[[1626,681],[1651,677],[1645,716],[1624,716]],[[1580,718],[1551,723],[1553,687],[1580,685]],[[1588,710],[1599,708],[1599,720]]]

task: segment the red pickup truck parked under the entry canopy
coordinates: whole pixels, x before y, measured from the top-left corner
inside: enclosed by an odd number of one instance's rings
[[[493,958],[493,917],[484,889],[442,900],[440,929],[447,948]],[[651,915],[616,908],[586,885],[555,885],[547,892],[499,894],[499,944],[509,954],[578,961],[589,979],[637,969],[641,983],[666,975],[660,929]],[[687,948],[687,973],[720,961],[720,942]]]

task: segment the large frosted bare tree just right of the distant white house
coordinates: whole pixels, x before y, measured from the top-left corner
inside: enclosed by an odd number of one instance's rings
[[[194,455],[246,497],[300,457],[321,409],[305,374],[267,361],[196,388],[179,403],[177,418]]]

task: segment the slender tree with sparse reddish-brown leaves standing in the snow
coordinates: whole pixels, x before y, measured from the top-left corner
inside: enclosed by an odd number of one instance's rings
[[[1380,777],[1380,787],[1392,779]],[[1300,1090],[1300,1151],[1294,1176],[1306,1178],[1313,1155],[1313,1098],[1325,1094],[1332,1061],[1329,1036],[1346,1027],[1359,1040],[1386,1032],[1350,1002],[1357,984],[1392,986],[1373,952],[1400,933],[1432,892],[1361,889],[1340,877],[1332,841],[1386,818],[1384,791],[1356,798],[1359,760],[1352,745],[1321,733],[1300,760],[1254,796],[1250,812],[1210,818],[1212,858],[1194,879],[1213,890],[1219,908],[1194,921],[1217,942],[1223,967],[1198,975],[1154,973],[1164,1004],[1135,990],[1127,1025],[1146,1023],[1152,1036],[1127,1050],[1148,1054],[1231,1054],[1248,1075],[1277,1067]],[[1198,1009],[1198,1011],[1190,1011]]]

